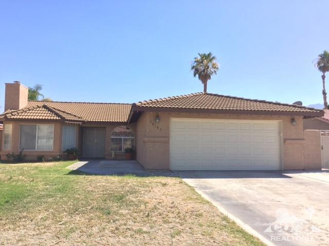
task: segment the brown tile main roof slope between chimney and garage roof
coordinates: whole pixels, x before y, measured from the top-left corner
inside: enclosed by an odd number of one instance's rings
[[[107,104],[107,103],[74,103],[60,101],[28,101],[30,106],[46,105],[54,110],[54,113],[67,114],[79,117],[83,121],[98,122],[126,122],[131,110],[131,104]]]

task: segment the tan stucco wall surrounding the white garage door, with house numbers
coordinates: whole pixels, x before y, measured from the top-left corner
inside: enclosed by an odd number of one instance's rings
[[[304,131],[302,116],[290,115],[237,115],[205,113],[159,113],[160,121],[155,122],[156,112],[144,112],[137,121],[137,160],[147,169],[169,169],[170,118],[205,119],[251,119],[280,120],[282,122],[283,168],[304,168]],[[291,125],[291,118],[297,121]]]

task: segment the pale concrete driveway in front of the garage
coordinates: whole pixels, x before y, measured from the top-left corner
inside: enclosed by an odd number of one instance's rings
[[[268,244],[329,245],[329,171],[178,173]]]

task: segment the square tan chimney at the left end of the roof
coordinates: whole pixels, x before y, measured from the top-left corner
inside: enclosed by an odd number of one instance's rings
[[[29,89],[20,81],[6,83],[5,111],[8,109],[21,109],[27,106]]]

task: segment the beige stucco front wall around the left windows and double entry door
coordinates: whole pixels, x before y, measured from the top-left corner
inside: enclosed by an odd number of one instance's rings
[[[19,153],[20,148],[20,125],[21,124],[50,124],[54,125],[54,138],[53,138],[53,150],[52,151],[37,151],[37,150],[25,150],[24,154],[26,155],[26,160],[36,160],[36,157],[39,155],[45,156],[47,159],[48,157],[55,157],[55,156],[63,156],[62,151],[62,126],[66,125],[62,122],[54,122],[54,121],[5,121],[4,124],[12,124],[12,147],[11,150],[3,150],[3,139],[1,139],[1,150],[0,155],[1,159],[6,159],[6,154],[14,152],[15,154]],[[105,144],[105,158],[112,159],[112,151],[111,151],[111,133],[114,128],[117,126],[122,126],[126,124],[83,124],[82,126],[76,125],[76,148],[79,149],[79,152],[82,153],[82,130],[83,127],[104,127],[106,128],[106,144]],[[132,129],[135,134],[136,138],[136,124],[128,125]],[[124,159],[125,155],[124,152],[115,152],[116,159]]]

